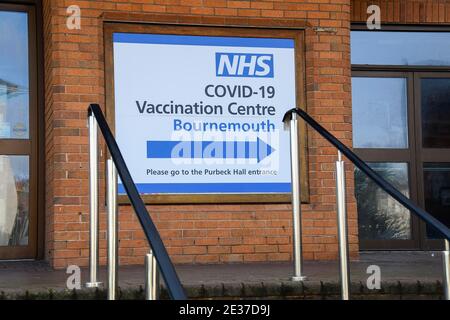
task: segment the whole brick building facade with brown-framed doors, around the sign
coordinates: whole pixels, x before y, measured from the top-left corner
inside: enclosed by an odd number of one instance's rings
[[[377,7],[368,13],[371,5]],[[380,22],[381,29],[369,30],[368,19],[371,28]],[[0,53],[0,154],[6,177],[0,188],[5,217],[0,259],[45,259],[55,268],[88,264],[87,108],[98,103],[107,115],[113,108],[108,35],[114,30],[293,34],[300,39],[298,107],[448,224],[448,213],[442,212],[450,197],[450,111],[445,109],[450,63],[442,45],[450,43],[449,23],[450,3],[441,0],[0,2],[0,44],[6,48]],[[417,59],[408,60],[409,52],[398,43],[416,48]],[[426,47],[439,54],[430,58]],[[302,135],[303,257],[335,259],[337,153],[316,132],[307,133]],[[106,259],[105,158],[102,153],[101,263]],[[346,173],[352,257],[359,250],[440,245],[432,231],[352,166]],[[175,263],[292,259],[287,198],[145,199]],[[120,263],[143,263],[148,245],[139,222],[125,200],[119,209]]]

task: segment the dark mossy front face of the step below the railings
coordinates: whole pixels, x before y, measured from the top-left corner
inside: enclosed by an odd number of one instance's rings
[[[294,299],[294,300],[338,300],[340,286],[338,283],[317,281],[306,282],[261,282],[261,283],[218,283],[207,285],[185,285],[189,299]],[[143,300],[144,289],[139,287],[119,288],[121,300]],[[161,299],[168,299],[164,286]],[[67,290],[53,288],[35,288],[31,290],[0,291],[0,300],[53,300],[106,299],[106,290],[86,289]],[[351,299],[355,300],[443,300],[442,283],[429,282],[382,282],[381,289],[369,290],[362,283],[352,283]]]

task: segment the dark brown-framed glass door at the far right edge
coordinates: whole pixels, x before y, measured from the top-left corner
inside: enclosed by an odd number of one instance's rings
[[[419,201],[450,227],[450,73],[415,73]],[[421,224],[422,247],[442,249],[438,233]]]

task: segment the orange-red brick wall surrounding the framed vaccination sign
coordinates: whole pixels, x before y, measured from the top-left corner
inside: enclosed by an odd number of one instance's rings
[[[81,8],[81,30],[66,28],[66,8],[73,4]],[[308,111],[351,145],[350,0],[44,0],[46,257],[54,267],[88,263],[86,108],[92,102],[105,104],[105,12],[119,20],[127,13],[131,14],[128,17],[138,14],[135,17],[147,21],[174,20],[182,14],[195,23],[217,25],[251,25],[257,21],[270,27],[283,21],[304,22]],[[302,208],[304,257],[334,259],[336,151],[311,131],[308,138],[311,201]],[[353,194],[351,176],[349,171],[349,195]],[[356,255],[356,209],[349,198],[350,250]],[[149,211],[176,263],[291,259],[288,204],[152,205]],[[120,207],[119,225],[121,263],[142,263],[148,249],[130,207]],[[102,210],[102,263],[105,227]]]

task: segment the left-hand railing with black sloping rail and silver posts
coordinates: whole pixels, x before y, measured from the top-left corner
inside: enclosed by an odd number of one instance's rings
[[[183,287],[181,285],[180,279],[175,271],[175,268],[170,260],[164,243],[161,240],[159,232],[153,223],[147,208],[139,195],[136,185],[131,177],[130,171],[123,159],[122,153],[120,152],[119,146],[117,145],[116,139],[114,138],[111,129],[103,115],[98,104],[91,104],[88,108],[88,123],[89,123],[89,142],[90,142],[90,178],[91,180],[96,179],[98,176],[97,169],[97,126],[100,128],[100,133],[102,134],[106,146],[108,148],[111,159],[108,162],[108,192],[107,192],[107,204],[108,204],[108,299],[113,300],[116,298],[117,291],[117,173],[120,176],[121,182],[124,186],[125,192],[128,195],[130,202],[134,208],[134,211],[139,219],[141,227],[150,245],[151,252],[154,257],[154,267],[156,270],[156,264],[159,266],[159,271],[167,287],[169,296],[172,299],[186,299]],[[95,136],[95,137],[94,137]],[[116,171],[117,170],[117,171]],[[90,254],[90,282],[97,282],[97,261],[98,261],[98,250],[94,248],[98,247],[98,182],[91,182],[90,197],[91,197],[91,226],[90,234],[91,240],[90,245],[92,247]],[[95,255],[97,252],[97,255]],[[149,273],[147,273],[149,274]],[[153,277],[152,279],[157,279]],[[149,281],[148,279],[146,281]],[[151,281],[151,279],[150,279]],[[91,285],[92,286],[92,285]],[[153,287],[157,286],[153,283]]]

